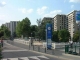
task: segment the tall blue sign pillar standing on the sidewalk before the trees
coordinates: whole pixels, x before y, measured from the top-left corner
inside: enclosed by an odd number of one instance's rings
[[[51,49],[52,47],[52,24],[46,25],[46,41],[47,41],[47,49]]]

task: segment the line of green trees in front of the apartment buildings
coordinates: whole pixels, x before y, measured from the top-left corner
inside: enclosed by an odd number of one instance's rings
[[[31,25],[31,22],[29,18],[24,18],[22,21],[19,21],[15,30],[15,37],[34,37],[38,38],[39,40],[44,40],[46,39],[46,24],[51,23],[51,20],[45,20],[45,19],[37,19],[37,25]],[[10,37],[10,31],[7,27],[1,26],[0,28],[0,37]],[[62,29],[59,31],[53,31],[52,30],[52,41],[55,42],[68,42],[70,37],[70,33],[66,29]],[[79,40],[79,32],[75,32],[73,35],[73,41],[78,41]]]

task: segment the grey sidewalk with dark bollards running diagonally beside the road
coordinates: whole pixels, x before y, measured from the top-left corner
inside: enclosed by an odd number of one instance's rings
[[[65,52],[61,51],[60,49],[46,50],[45,51],[45,48],[42,48],[42,46],[30,46],[29,47],[28,45],[21,44],[21,43],[18,43],[18,42],[14,43],[14,45],[16,45],[16,46],[21,45],[22,46],[21,48],[25,48],[25,49],[29,49],[29,50],[32,50],[32,51],[45,53],[45,54],[55,55],[55,56],[58,56],[58,57],[68,58],[68,59],[71,59],[71,60],[80,60],[80,56],[65,54]]]

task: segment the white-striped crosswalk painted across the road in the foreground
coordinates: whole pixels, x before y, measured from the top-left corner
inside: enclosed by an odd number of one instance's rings
[[[47,59],[49,60],[48,57],[46,56],[30,56],[30,57],[18,57],[18,58],[4,58],[2,60],[41,60],[41,59]]]

